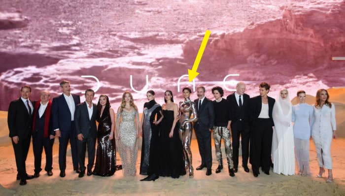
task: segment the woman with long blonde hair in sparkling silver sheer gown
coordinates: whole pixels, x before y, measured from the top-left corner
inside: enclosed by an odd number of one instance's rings
[[[115,138],[121,156],[123,175],[135,176],[138,156],[139,113],[129,91],[122,95],[121,105],[116,114]]]

